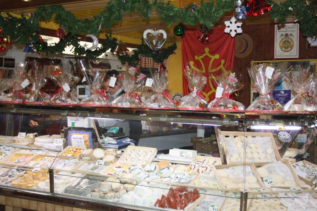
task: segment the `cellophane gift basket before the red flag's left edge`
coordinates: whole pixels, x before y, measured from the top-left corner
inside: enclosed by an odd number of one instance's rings
[[[179,102],[175,102],[176,107],[186,110],[204,110],[208,102],[205,101],[202,90],[207,84],[207,78],[201,72],[191,68],[190,65],[186,66],[184,73],[191,93],[182,97]]]

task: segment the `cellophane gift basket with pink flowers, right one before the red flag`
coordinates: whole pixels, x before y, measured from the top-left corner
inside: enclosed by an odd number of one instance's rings
[[[243,87],[235,72],[223,71],[219,76],[211,74],[211,79],[217,84],[216,98],[209,103],[207,110],[230,112],[243,112],[245,110],[241,102],[230,99],[231,93]]]

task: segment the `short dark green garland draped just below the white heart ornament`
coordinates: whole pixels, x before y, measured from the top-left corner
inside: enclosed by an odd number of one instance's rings
[[[142,44],[139,45],[137,49],[133,50],[133,53],[131,56],[118,56],[118,59],[121,61],[122,64],[127,63],[130,66],[135,66],[139,63],[139,54],[143,54],[146,57],[150,57],[153,59],[156,63],[163,63],[164,59],[167,59],[171,54],[175,54],[177,46],[174,43],[173,45],[163,49],[160,52],[152,51],[142,39]]]

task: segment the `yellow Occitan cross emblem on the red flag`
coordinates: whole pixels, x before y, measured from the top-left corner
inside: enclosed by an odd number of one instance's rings
[[[219,65],[217,68],[214,68],[214,69],[211,69],[212,68],[212,62],[215,60],[215,59],[219,59],[219,54],[215,54],[214,56],[211,55],[209,53],[209,48],[205,48],[205,53],[201,56],[197,56],[195,55],[195,60],[198,60],[202,66],[202,70],[198,69],[195,67],[195,62],[194,61],[190,61],[189,64],[191,65],[191,68],[197,72],[201,72],[201,73],[205,73],[206,72],[206,68],[205,68],[205,65],[202,61],[202,58],[204,58],[205,56],[208,56],[210,58],[210,62],[209,62],[209,66],[208,66],[208,72],[216,72],[218,70],[222,70],[224,71],[225,73],[227,73],[228,71],[224,68],[223,64],[225,63],[224,59],[221,60],[221,65]],[[218,78],[216,78],[218,79]],[[209,96],[210,94],[216,92],[216,89],[213,87],[212,83],[211,83],[211,76],[208,77],[208,81],[209,81],[209,85],[210,85],[210,91],[208,93],[205,93],[204,91],[202,91],[203,95],[205,96],[205,100],[208,102],[209,101]]]

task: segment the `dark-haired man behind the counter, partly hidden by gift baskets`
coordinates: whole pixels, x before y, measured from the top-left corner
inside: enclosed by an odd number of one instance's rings
[[[116,70],[109,70],[106,73],[104,79],[104,89],[106,90],[106,94],[109,97],[109,102],[112,102],[114,98],[117,96],[123,95],[125,92],[122,89],[121,84],[116,80],[114,87],[109,86],[111,77],[118,77],[120,73]],[[117,120],[117,124],[115,127],[123,127],[123,132],[129,131],[129,138],[135,140],[135,145],[138,146],[140,135],[142,133],[142,123],[141,121],[128,120],[128,121],[120,121]],[[129,129],[128,129],[129,128]]]

